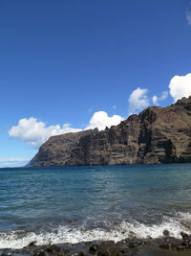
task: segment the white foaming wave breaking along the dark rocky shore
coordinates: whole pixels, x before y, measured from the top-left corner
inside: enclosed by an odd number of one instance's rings
[[[85,230],[81,228],[73,228],[67,226],[59,226],[49,232],[42,231],[37,234],[30,231],[11,231],[0,233],[0,248],[23,248],[32,242],[36,245],[45,244],[76,244],[89,241],[108,241],[113,240],[116,243],[123,239],[137,237],[140,239],[151,237],[153,239],[162,237],[163,231],[167,229],[170,236],[180,239],[180,232],[191,232],[191,214],[178,213],[174,218],[164,217],[159,224],[145,224],[138,221],[127,222],[122,221],[120,224],[113,226],[108,230],[96,228],[93,230]]]

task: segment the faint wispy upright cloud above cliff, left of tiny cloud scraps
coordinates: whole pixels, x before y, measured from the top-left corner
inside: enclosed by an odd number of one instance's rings
[[[147,89],[137,88],[129,97],[129,114],[137,113],[149,105]]]

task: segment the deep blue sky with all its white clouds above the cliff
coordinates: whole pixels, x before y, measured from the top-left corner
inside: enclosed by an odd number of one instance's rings
[[[0,167],[191,95],[189,0],[1,0]]]

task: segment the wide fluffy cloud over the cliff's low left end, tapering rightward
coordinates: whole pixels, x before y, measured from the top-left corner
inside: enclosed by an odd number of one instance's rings
[[[11,138],[17,138],[38,148],[50,136],[79,130],[81,129],[71,128],[70,124],[65,124],[62,128],[59,125],[46,127],[45,123],[30,117],[20,119],[18,125],[11,128],[9,135]]]

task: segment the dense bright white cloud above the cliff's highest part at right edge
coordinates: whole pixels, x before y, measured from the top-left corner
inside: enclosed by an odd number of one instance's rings
[[[191,95],[191,73],[173,77],[169,83],[169,88],[174,102],[182,97],[189,97]]]

